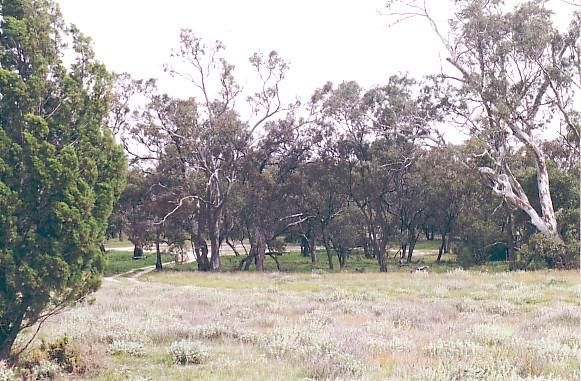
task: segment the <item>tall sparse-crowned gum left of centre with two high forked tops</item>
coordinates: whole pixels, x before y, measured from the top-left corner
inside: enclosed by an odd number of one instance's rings
[[[205,226],[210,241],[211,271],[220,269],[224,211],[243,160],[260,140],[264,123],[285,110],[279,84],[287,64],[276,52],[266,56],[256,53],[250,58],[259,81],[258,90],[247,98],[252,112],[248,120],[240,117],[236,102],[243,90],[224,54],[221,42],[206,44],[190,30],[182,30],[180,46],[166,70],[190,84],[195,96],[174,99],[153,95],[130,128],[133,139],[148,147],[142,158],[159,161],[170,151],[177,157],[182,184],[174,189],[178,194],[174,208],[159,223],[185,203],[194,202],[198,217],[204,219],[197,225]],[[196,242],[203,241],[200,235],[196,238]]]

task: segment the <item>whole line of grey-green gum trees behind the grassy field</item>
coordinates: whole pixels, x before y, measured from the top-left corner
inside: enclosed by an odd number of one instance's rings
[[[461,1],[444,38],[420,3],[389,9],[430,23],[448,72],[371,89],[327,83],[283,104],[288,65],[255,54],[244,119],[224,46],[184,30],[166,70],[195,97],[122,76],[118,104],[135,94],[147,104],[118,107],[134,165],[111,235],[125,232],[137,249],[187,243],[202,271],[220,270],[221,247],[240,254],[237,242],[249,243],[242,269],[262,271],[267,254],[297,242],[313,263],[317,247],[330,268],[358,250],[387,271],[390,245],[409,263],[422,235],[441,241],[438,261],[454,242],[467,264],[578,266],[579,14],[560,32],[542,1],[510,11]],[[469,139],[446,144],[440,132],[452,125]],[[547,126],[560,134],[543,140]]]

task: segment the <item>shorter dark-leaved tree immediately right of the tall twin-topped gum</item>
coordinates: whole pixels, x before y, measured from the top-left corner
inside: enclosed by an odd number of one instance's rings
[[[277,238],[310,218],[302,212],[302,189],[297,186],[297,171],[312,150],[304,127],[304,120],[289,113],[284,119],[268,122],[262,139],[248,151],[240,172],[238,220],[251,247],[241,266],[248,268],[254,259],[257,271],[264,271],[265,255],[280,249]]]

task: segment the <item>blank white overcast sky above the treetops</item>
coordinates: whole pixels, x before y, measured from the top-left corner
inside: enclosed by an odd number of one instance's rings
[[[388,28],[380,14],[385,0],[57,0],[68,22],[94,41],[97,57],[110,70],[160,78],[172,95],[190,86],[167,80],[162,66],[178,46],[181,28],[226,44],[236,78],[250,87],[248,57],[277,50],[290,61],[282,95],[303,99],[326,81],[356,80],[364,87],[385,83],[390,75],[437,73],[445,57],[427,25],[411,20]],[[508,0],[515,2],[516,0]],[[568,0],[579,2],[581,0]],[[444,24],[450,0],[429,0]],[[561,19],[572,7],[550,5]]]

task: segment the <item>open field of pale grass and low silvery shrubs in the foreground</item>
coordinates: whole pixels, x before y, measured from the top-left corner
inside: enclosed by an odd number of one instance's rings
[[[41,335],[86,380],[579,380],[580,297],[578,272],[149,273]]]

